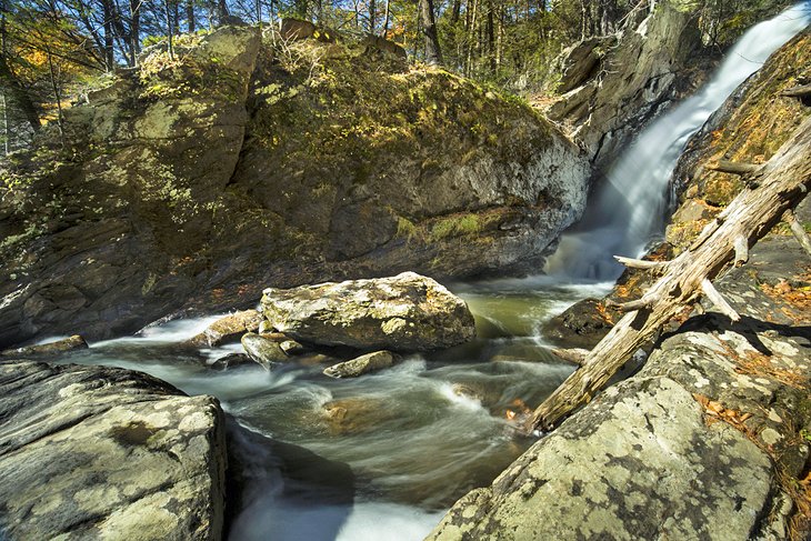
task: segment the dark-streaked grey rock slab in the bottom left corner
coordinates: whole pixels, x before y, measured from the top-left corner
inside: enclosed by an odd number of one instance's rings
[[[220,539],[222,420],[140,372],[0,363],[0,538]]]

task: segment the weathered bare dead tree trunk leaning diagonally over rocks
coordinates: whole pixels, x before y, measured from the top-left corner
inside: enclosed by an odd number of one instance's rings
[[[618,258],[629,267],[657,267],[661,278],[641,299],[620,304],[629,313],[591,350],[585,364],[534,411],[529,431],[549,430],[589,402],[647,340],[701,294],[732,320],[740,319],[710,280],[733,259],[745,261],[749,247],[805,197],[811,187],[811,118],[771,160],[747,172],[745,180],[748,188],[674,260],[651,264]]]

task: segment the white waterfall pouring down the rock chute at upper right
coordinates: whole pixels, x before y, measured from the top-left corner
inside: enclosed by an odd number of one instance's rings
[[[811,23],[811,1],[747,31],[695,96],[647,128],[609,168],[580,231],[565,233],[545,271],[608,280],[622,268],[614,254],[639,257],[661,232],[668,182],[690,137],[769,56]]]

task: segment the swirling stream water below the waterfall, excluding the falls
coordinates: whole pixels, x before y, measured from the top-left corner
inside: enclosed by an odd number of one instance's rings
[[[271,372],[216,370],[208,364],[239,344],[198,351],[180,342],[217,317],[96,343],[66,362],[141,370],[220,399],[231,475],[242,485],[231,539],[415,540],[531,443],[508,418],[572,371],[549,353],[539,327],[608,287],[544,277],[459,284],[477,317],[474,342],[358,379],[327,378],[307,359]]]

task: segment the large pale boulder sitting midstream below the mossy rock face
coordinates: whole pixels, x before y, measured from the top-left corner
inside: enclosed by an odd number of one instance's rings
[[[463,300],[437,281],[403,272],[264,290],[262,311],[273,327],[304,342],[362,350],[428,351],[475,335]]]

